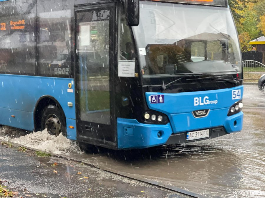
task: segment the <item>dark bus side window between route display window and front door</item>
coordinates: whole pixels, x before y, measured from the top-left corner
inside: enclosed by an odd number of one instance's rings
[[[38,1],[37,65],[42,76],[72,77],[71,1]]]

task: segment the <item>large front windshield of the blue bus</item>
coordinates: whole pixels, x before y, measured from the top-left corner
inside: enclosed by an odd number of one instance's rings
[[[133,31],[144,78],[241,72],[229,8],[141,2],[140,24]]]

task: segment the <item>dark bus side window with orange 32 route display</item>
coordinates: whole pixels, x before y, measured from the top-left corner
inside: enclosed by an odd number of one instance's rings
[[[23,6],[21,6],[23,4]],[[0,72],[34,75],[36,1],[6,1],[0,6]]]

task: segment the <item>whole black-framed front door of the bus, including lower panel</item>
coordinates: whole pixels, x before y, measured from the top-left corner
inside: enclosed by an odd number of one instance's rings
[[[113,13],[112,4],[75,12],[77,139],[107,148],[116,146],[110,102]]]

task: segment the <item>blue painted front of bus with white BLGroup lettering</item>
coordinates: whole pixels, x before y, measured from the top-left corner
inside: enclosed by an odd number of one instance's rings
[[[240,90],[240,98],[233,99],[234,90]],[[149,98],[151,95],[164,95],[164,103],[151,104],[151,98]],[[166,114],[169,123],[166,125],[143,124],[134,119],[118,118],[118,148],[147,148],[162,145],[167,142],[171,134],[218,126],[223,126],[226,133],[239,132],[243,124],[243,112],[240,111],[232,116],[227,114],[230,107],[242,99],[242,95],[243,85],[200,92],[170,94],[147,92],[145,97],[148,107]],[[195,118],[192,111],[201,109],[210,109],[208,116]],[[127,136],[125,134],[126,128],[132,128],[132,135]],[[161,138],[158,138],[158,131],[163,131]]]

